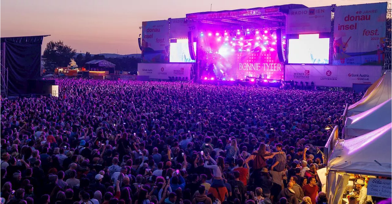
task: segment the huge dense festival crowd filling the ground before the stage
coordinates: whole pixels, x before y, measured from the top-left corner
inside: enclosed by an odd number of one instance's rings
[[[343,91],[58,79],[3,99],[1,204],[323,204]]]

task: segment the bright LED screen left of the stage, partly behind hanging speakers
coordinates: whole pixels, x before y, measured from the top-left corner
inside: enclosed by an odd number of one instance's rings
[[[170,43],[170,62],[195,62],[189,54],[188,39],[177,39],[176,43]],[[193,43],[196,53],[196,42]]]

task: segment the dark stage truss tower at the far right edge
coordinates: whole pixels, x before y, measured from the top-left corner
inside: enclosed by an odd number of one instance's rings
[[[392,69],[392,4],[388,3],[387,25],[385,33],[385,60],[383,73],[387,69]]]

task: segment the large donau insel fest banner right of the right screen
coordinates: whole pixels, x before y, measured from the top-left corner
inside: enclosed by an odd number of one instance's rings
[[[333,65],[383,65],[387,2],[335,8]]]

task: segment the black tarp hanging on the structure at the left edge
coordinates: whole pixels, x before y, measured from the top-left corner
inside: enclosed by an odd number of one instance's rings
[[[40,78],[43,39],[43,35],[0,38],[0,43],[5,43],[8,95],[26,94],[27,80]]]

